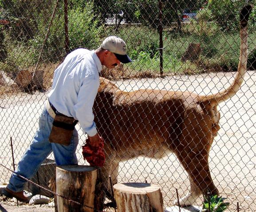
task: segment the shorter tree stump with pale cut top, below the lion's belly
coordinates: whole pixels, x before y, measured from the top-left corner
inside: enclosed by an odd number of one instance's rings
[[[118,212],[163,212],[159,186],[149,183],[118,183],[113,187]]]

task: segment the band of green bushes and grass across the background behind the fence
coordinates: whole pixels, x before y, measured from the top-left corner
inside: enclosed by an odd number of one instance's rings
[[[163,17],[165,19],[163,19],[163,21],[170,23],[172,20],[175,20],[175,15],[179,14],[185,7],[199,7],[202,4],[199,0],[188,1],[186,4],[182,3],[180,5],[177,5],[178,2],[181,3],[179,0],[174,2],[163,1]],[[11,18],[10,21],[12,24],[11,28],[2,28],[3,34],[0,34],[2,47],[6,50],[0,53],[2,63],[14,63],[15,67],[24,68],[37,62],[55,6],[55,2],[50,0],[43,3],[41,2],[42,5],[39,3],[39,0],[0,0],[0,4],[3,7],[0,11]],[[106,4],[103,4],[102,1],[96,3],[96,0],[69,1],[68,27],[70,50],[77,48],[95,49],[106,36],[117,35],[126,41],[128,54],[133,59],[133,63],[126,65],[129,70],[139,72],[150,70],[150,72],[159,73],[159,34],[156,24],[159,1],[138,0],[138,2],[135,2],[121,0],[116,3],[114,0],[107,0]],[[26,4],[28,4],[28,6],[25,7],[24,5]],[[224,25],[221,26],[223,30],[221,31],[219,29],[220,26],[217,24],[222,23],[213,21],[216,19],[218,12],[221,15],[223,15],[222,12],[226,12],[222,7],[228,8],[230,4],[230,1],[210,1],[208,7],[198,12],[197,21],[193,20],[189,25],[186,25],[188,27],[185,29],[185,33],[182,31],[179,33],[173,31],[173,33],[170,34],[169,30],[167,30],[169,28],[164,29],[164,72],[192,74],[204,72],[205,70],[220,70],[221,68],[228,71],[236,71],[239,62],[240,45],[240,38],[237,32],[238,21],[232,20],[230,22],[234,24],[234,29],[236,29],[231,32],[229,32]],[[240,5],[237,1],[234,4]],[[39,8],[37,8],[36,5]],[[169,5],[169,9],[167,5]],[[29,7],[32,9],[30,10]],[[118,32],[113,33],[114,27],[111,28],[102,25],[102,15],[96,13],[95,10],[95,8],[98,7],[101,8],[102,11],[105,10],[109,16],[114,15],[122,9],[126,15],[133,14],[130,16],[133,21],[138,21],[143,24],[122,26],[119,28]],[[228,8],[228,11],[232,10],[232,5],[230,7],[231,9]],[[148,10],[146,11],[145,8],[146,10],[148,8]],[[17,14],[15,10],[18,10]],[[146,17],[147,14],[148,17]],[[236,14],[235,17],[238,18],[238,8],[233,7],[233,14]],[[28,17],[30,17],[29,20]],[[221,17],[224,18],[225,15]],[[58,62],[65,56],[63,19],[63,1],[61,1],[57,7],[40,62]],[[19,25],[18,22],[20,20],[24,20],[25,23]],[[250,16],[249,27],[253,26],[253,21],[255,23],[255,20],[256,13],[255,10],[253,10]],[[228,21],[229,20],[227,20],[227,22]],[[29,26],[26,25],[27,23]],[[16,27],[13,27],[13,24],[16,24]],[[230,25],[226,25],[226,27],[227,26]],[[19,28],[19,30],[15,31],[16,28]],[[253,49],[256,46],[255,38],[256,34],[251,27],[250,39],[248,39],[249,49],[250,47]],[[202,53],[197,63],[181,61],[181,57],[190,43],[200,43],[201,45]],[[256,50],[251,51],[248,64],[255,67]],[[10,65],[5,65],[4,67],[10,67]],[[12,68],[10,68],[10,70],[11,69]]]

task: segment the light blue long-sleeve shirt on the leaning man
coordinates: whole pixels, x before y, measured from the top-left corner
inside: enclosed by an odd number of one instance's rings
[[[102,64],[95,51],[76,49],[56,68],[49,101],[60,113],[79,121],[83,133],[97,133],[92,107]]]

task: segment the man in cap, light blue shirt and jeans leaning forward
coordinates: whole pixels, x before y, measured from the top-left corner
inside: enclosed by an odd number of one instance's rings
[[[18,175],[32,178],[52,151],[57,166],[78,163],[75,155],[79,140],[75,130],[77,121],[83,133],[87,133],[90,145],[98,148],[102,138],[97,133],[92,107],[99,87],[99,73],[102,65],[114,68],[120,62],[131,62],[126,54],[126,43],[110,36],[96,50],[71,52],[56,68],[52,89],[39,117],[39,128],[2,191],[6,197],[28,202],[23,192],[26,180]]]

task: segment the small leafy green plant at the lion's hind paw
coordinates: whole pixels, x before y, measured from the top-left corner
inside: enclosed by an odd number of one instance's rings
[[[211,195],[210,202],[207,197],[205,197],[205,199],[206,200],[203,202],[202,212],[209,212],[209,207],[211,212],[223,212],[230,204],[229,202],[224,202],[226,198],[218,197],[217,195]]]

